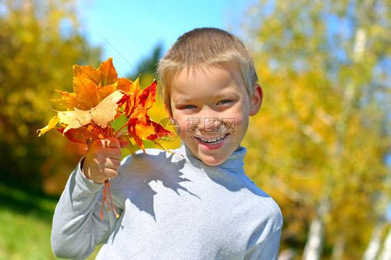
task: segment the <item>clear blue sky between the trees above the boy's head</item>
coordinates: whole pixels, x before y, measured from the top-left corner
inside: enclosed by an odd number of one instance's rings
[[[163,44],[166,53],[186,31],[205,26],[238,28],[249,2],[84,0],[79,18],[90,43],[103,48],[102,61],[113,57],[118,76],[127,76],[157,44]]]

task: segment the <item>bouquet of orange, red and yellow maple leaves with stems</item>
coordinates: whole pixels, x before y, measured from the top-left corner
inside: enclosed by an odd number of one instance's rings
[[[66,111],[56,111],[57,115],[51,118],[49,124],[38,130],[38,136],[50,129],[57,129],[75,143],[88,145],[96,139],[115,137],[127,140],[130,144],[129,138],[133,138],[134,143],[143,151],[144,140],[151,140],[166,149],[157,140],[172,133],[147,115],[148,109],[155,102],[156,80],[148,88],[141,90],[138,79],[134,82],[126,78],[118,79],[112,58],[104,61],[98,69],[89,65],[74,65],[73,74],[74,92],[56,90],[61,97],[51,100],[63,106]],[[111,122],[121,115],[127,117],[127,122],[115,130]],[[103,202],[106,202],[110,211],[108,194],[118,218],[111,199],[109,179],[104,182]],[[104,203],[102,211],[103,206]]]

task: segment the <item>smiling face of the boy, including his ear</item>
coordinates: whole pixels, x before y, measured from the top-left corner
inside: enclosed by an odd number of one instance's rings
[[[212,67],[205,72],[180,72],[170,88],[179,137],[207,165],[223,163],[243,140],[249,115],[260,109],[260,86],[254,92],[250,100],[236,70]]]

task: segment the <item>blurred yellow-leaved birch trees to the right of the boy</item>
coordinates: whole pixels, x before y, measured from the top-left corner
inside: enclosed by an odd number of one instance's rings
[[[390,8],[381,0],[258,1],[242,25],[264,88],[246,165],[280,204],[281,249],[302,259],[359,259],[384,218]]]

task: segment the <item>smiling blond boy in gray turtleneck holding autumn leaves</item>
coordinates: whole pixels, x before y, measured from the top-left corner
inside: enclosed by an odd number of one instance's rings
[[[282,216],[244,174],[240,146],[262,104],[253,59],[219,29],[182,35],[158,68],[161,96],[182,145],[147,149],[120,166],[118,140],[95,140],[54,213],[58,257],[97,259],[277,259]],[[116,219],[99,214],[111,179]]]

